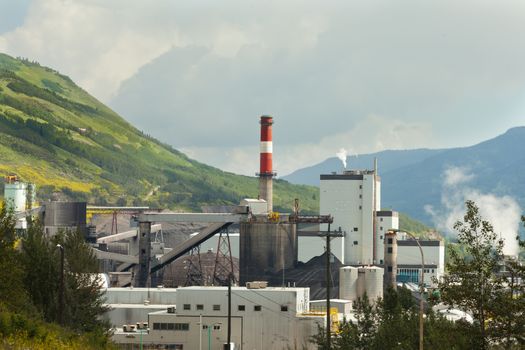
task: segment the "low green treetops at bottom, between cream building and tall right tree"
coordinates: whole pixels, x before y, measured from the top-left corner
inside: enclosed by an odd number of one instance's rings
[[[371,304],[366,295],[354,302],[356,322],[344,320],[332,337],[332,350],[385,350],[419,348],[419,308],[405,288],[388,289],[384,298]],[[424,348],[433,350],[476,349],[466,322],[451,322],[426,310]],[[312,339],[320,350],[327,349],[325,330]]]

